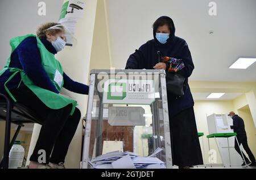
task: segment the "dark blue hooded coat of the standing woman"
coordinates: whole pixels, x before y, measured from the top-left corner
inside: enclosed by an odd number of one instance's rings
[[[183,97],[175,97],[172,94],[167,94],[169,115],[173,117],[179,112],[187,108],[191,108],[194,105],[188,85],[188,77],[191,76],[194,65],[186,41],[175,36],[174,22],[171,18],[170,21],[172,23],[172,31],[167,43],[159,43],[155,37],[156,32],[154,32],[154,39],[147,41],[146,44],[143,44],[135,51],[135,53],[130,55],[126,63],[126,69],[154,69],[153,67],[158,63],[158,51],[161,52],[162,57],[168,56],[183,60],[185,67],[178,73],[182,74],[186,78],[184,95]]]

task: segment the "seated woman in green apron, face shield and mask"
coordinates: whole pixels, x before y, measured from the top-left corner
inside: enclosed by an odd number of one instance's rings
[[[81,113],[77,102],[61,95],[60,90],[64,87],[79,94],[89,91],[87,85],[69,78],[55,59],[65,46],[64,34],[61,24],[47,23],[39,27],[37,36],[11,39],[12,53],[0,72],[0,93],[27,106],[42,121],[27,168],[65,168],[65,156]]]

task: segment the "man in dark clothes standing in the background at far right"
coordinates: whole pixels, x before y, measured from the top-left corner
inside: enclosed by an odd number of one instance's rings
[[[245,131],[245,123],[243,122],[243,119],[240,118],[240,116],[236,115],[233,111],[229,112],[229,116],[233,119],[233,125],[230,125],[230,128],[234,130],[234,132],[237,133],[237,141],[235,140],[235,149],[240,154],[240,156],[245,158],[245,161],[243,161],[242,166],[245,166],[246,164],[250,164],[249,166],[256,166],[255,157],[253,156],[253,153],[251,152],[248,143],[247,143],[247,136]],[[251,162],[248,160],[248,158],[245,156],[245,154],[241,154],[240,145],[243,145],[243,149],[245,149],[246,153],[248,154]],[[243,158],[242,157],[242,158]]]

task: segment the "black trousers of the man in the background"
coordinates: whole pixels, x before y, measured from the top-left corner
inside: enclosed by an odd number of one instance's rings
[[[238,141],[239,145],[238,145],[237,141]],[[240,156],[242,157],[242,154],[241,154],[239,146],[242,144],[243,145],[243,149],[245,149],[245,152],[248,154],[251,162],[255,162],[255,157],[253,156],[253,153],[251,152],[251,150],[249,148],[249,145],[247,143],[247,136],[246,136],[246,134],[245,135],[237,135],[237,141],[235,140],[235,149],[240,154]],[[245,160],[247,159],[247,157],[245,156],[244,153],[243,153],[243,157],[245,158]]]

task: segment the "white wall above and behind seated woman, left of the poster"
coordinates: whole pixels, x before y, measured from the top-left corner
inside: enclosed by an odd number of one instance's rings
[[[63,0],[43,0],[46,3],[46,16],[38,15],[40,0],[1,0],[0,1],[0,69],[10,56],[9,41],[15,36],[35,34],[36,28],[45,22],[57,22]]]

